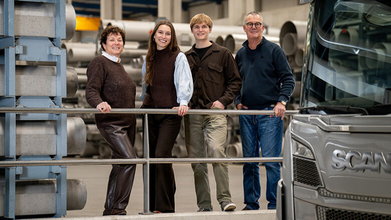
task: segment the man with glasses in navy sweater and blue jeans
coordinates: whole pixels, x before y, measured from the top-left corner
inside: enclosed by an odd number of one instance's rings
[[[281,47],[262,36],[265,25],[258,12],[246,15],[243,29],[247,40],[235,56],[243,85],[235,98],[235,105],[237,109],[274,110],[274,116],[240,115],[243,157],[259,157],[259,147],[264,157],[281,156],[282,118],[285,104],[295,87],[295,79]],[[243,166],[246,204],[243,210],[259,209],[261,185],[258,165],[258,162],[246,162]],[[276,209],[280,163],[265,162],[265,168],[268,209]]]

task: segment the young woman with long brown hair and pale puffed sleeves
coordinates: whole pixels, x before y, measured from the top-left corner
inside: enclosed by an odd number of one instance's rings
[[[182,115],[187,113],[193,82],[187,58],[180,52],[175,30],[167,20],[156,23],[142,67],[145,108],[175,108],[178,114],[148,114],[150,157],[171,157]],[[175,211],[172,164],[150,165],[150,210]]]

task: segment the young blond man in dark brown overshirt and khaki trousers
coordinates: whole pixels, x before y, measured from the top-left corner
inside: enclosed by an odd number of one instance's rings
[[[194,15],[190,21],[190,29],[195,38],[195,44],[185,52],[194,82],[190,107],[225,109],[241,86],[235,60],[227,48],[209,40],[212,19],[208,15]],[[189,157],[226,157],[226,115],[187,114],[184,117],[184,128]],[[191,167],[194,171],[198,211],[212,211],[207,163],[192,163]],[[231,201],[229,188],[228,163],[213,163],[213,172],[217,185],[217,200],[221,209],[235,210],[236,205]]]

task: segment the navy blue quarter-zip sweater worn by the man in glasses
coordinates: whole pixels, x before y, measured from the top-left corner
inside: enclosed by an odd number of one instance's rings
[[[282,48],[265,37],[250,49],[246,40],[236,53],[235,61],[242,77],[235,106],[242,103],[249,109],[264,109],[278,101],[288,101],[295,79]]]

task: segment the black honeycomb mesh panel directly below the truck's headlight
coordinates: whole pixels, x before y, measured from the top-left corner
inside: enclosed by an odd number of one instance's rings
[[[313,160],[293,157],[293,172],[294,180],[302,184],[311,186],[321,186],[319,172],[316,167],[316,162]]]

